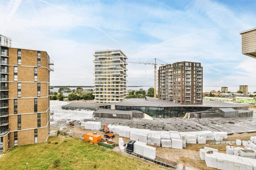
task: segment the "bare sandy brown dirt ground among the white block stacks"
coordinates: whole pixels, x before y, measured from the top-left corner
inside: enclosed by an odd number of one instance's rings
[[[99,120],[96,120],[99,121]],[[101,120],[101,122],[104,122]],[[106,122],[106,121],[105,121]],[[68,128],[65,128],[61,130],[61,134],[65,135],[72,135],[75,138],[81,138],[83,134],[92,132],[92,130],[85,130],[82,128],[78,122],[75,122],[75,126],[70,126],[69,124],[66,124],[65,122],[61,122],[62,125],[68,126]],[[103,126],[103,123],[101,123]],[[107,124],[108,125],[108,124]],[[67,131],[71,130],[70,134],[67,134]],[[155,130],[155,129],[154,129]],[[97,131],[97,134],[101,135],[104,139],[104,132],[102,131]],[[249,140],[251,136],[256,136],[256,133],[242,133],[242,134],[233,134],[233,135],[228,135],[228,138],[226,139],[227,141],[236,141],[236,139],[241,139],[241,140]],[[130,139],[126,137],[122,137],[124,140],[124,143],[127,144]],[[115,138],[112,139],[112,141],[116,142],[118,144],[119,141],[119,135],[116,135]],[[193,170],[216,170],[215,168],[209,168],[206,166],[205,161],[200,160],[200,153],[199,150],[200,148],[204,148],[204,146],[210,147],[210,148],[215,148],[218,149],[219,152],[226,153],[226,146],[228,144],[220,144],[220,145],[210,145],[211,141],[207,141],[207,144],[187,144],[186,148],[183,148],[182,150],[180,149],[173,149],[173,148],[162,148],[162,147],[157,147],[153,146],[156,148],[156,154],[159,157],[164,157],[166,159],[171,159],[179,164],[185,163],[186,166],[189,167]],[[235,144],[229,144],[229,146],[235,146]],[[243,146],[240,146],[243,147]],[[119,147],[115,147],[113,149],[116,152],[120,152]],[[130,156],[126,153],[122,153],[125,156]],[[200,168],[199,168],[200,167]]]

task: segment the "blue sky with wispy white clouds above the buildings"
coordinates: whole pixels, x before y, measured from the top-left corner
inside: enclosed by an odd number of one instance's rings
[[[256,27],[253,0],[1,0],[0,34],[13,48],[47,51],[51,86],[93,86],[94,51],[130,62],[200,62],[204,86],[256,86],[241,31]],[[154,66],[128,64],[127,86],[154,86]]]

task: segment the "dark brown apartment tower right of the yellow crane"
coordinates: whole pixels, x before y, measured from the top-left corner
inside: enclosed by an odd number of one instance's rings
[[[178,104],[202,104],[202,67],[196,62],[176,62],[158,70],[159,99]]]

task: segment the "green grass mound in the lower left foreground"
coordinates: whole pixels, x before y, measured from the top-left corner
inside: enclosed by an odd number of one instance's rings
[[[49,137],[47,143],[11,148],[0,159],[0,170],[159,170],[137,157],[126,157],[119,152],[70,136]]]

